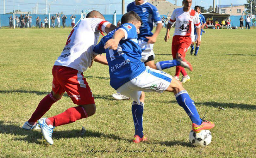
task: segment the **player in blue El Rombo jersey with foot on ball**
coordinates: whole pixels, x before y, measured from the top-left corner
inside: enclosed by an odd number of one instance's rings
[[[106,53],[109,64],[110,85],[117,92],[127,95],[134,101],[132,115],[135,127],[134,143],[146,141],[143,134],[142,114],[144,92],[173,92],[180,106],[192,121],[192,130],[199,132],[214,127],[214,123],[199,117],[195,103],[181,82],[171,75],[145,66],[141,62],[141,49],[137,33],[140,33],[141,19],[130,11],[122,16],[121,26],[104,36],[94,47],[95,55]]]

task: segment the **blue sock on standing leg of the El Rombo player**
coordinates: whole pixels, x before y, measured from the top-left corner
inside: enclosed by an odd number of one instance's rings
[[[142,138],[144,136],[143,134],[143,126],[142,126],[142,114],[144,109],[144,103],[140,102],[140,105],[136,101],[133,101],[132,104],[132,114],[133,114],[133,122],[135,127],[135,134],[140,136]]]

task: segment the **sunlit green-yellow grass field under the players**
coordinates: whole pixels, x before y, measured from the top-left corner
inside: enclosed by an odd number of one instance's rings
[[[115,90],[109,85],[108,67],[98,63],[84,73],[95,97],[95,115],[55,128],[53,146],[43,141],[41,131],[23,130],[51,91],[52,66],[70,30],[0,30],[0,157],[255,157],[255,29],[208,29],[198,56],[187,52],[194,71],[188,72],[191,81],[184,88],[199,114],[207,110],[206,119],[215,122],[212,142],[205,148],[190,145],[190,119],[171,93],[146,93],[143,119],[149,141],[132,143],[132,100],[111,98]],[[165,43],[164,35],[162,29],[154,45],[156,61],[172,59],[171,41]],[[174,75],[175,68],[165,72]],[[72,106],[64,95],[45,117]],[[87,130],[83,136],[82,126]]]

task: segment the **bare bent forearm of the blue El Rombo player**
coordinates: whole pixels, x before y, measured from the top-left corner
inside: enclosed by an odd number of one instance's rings
[[[122,29],[119,29],[117,30],[115,33],[114,33],[114,36],[112,39],[108,40],[105,45],[104,45],[104,49],[113,49],[113,50],[116,50],[117,49],[117,46],[118,46],[118,43],[119,41],[125,37],[125,33]]]

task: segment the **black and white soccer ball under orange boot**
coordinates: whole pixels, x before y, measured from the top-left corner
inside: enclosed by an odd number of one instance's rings
[[[202,130],[195,133],[193,130],[189,133],[189,142],[194,146],[205,147],[211,143],[212,134],[209,130]]]

